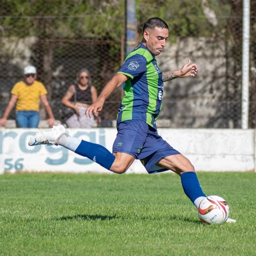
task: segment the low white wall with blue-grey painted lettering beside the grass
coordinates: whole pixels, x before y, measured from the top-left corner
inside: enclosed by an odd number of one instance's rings
[[[110,173],[88,158],[60,146],[29,147],[38,129],[0,129],[0,173],[97,172]],[[255,171],[255,131],[239,129],[165,129],[158,132],[179,150],[197,171]],[[68,129],[75,137],[112,150],[115,128]],[[127,173],[147,173],[136,160]]]

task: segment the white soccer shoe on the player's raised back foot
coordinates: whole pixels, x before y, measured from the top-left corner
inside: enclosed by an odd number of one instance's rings
[[[63,125],[53,126],[52,129],[42,130],[41,132],[36,133],[35,136],[30,138],[28,145],[57,145],[56,140],[60,137],[61,134],[66,133],[66,129]]]

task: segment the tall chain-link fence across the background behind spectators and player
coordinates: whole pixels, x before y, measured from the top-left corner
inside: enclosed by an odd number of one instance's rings
[[[56,118],[61,98],[81,68],[89,69],[99,93],[124,57],[122,2],[1,1],[0,115],[27,64],[36,66],[38,80],[48,90]],[[168,10],[165,2],[160,2]],[[140,39],[145,20],[157,14],[146,12],[149,5],[138,3]],[[183,15],[161,17],[170,27],[169,44],[158,58],[162,71],[181,68],[190,58],[197,63],[199,72],[195,78],[165,84],[159,125],[162,119],[162,125],[175,128],[241,128],[243,2],[221,1],[224,3],[227,15],[216,12],[218,9],[212,14],[202,4],[201,15],[192,15],[188,8]],[[256,126],[255,5],[256,1],[251,1],[250,128]],[[119,8],[118,13],[115,8]],[[103,120],[116,119],[121,94],[120,89],[108,98],[101,113]],[[14,113],[13,110],[10,119],[14,119]],[[43,111],[41,118],[46,118]]]

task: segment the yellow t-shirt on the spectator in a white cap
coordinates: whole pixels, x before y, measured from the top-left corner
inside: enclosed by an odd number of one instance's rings
[[[41,82],[35,80],[31,85],[23,81],[14,84],[11,93],[18,97],[16,111],[39,111],[40,97],[47,94],[47,91]]]

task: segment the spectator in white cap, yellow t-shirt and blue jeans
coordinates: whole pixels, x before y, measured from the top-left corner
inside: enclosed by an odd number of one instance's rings
[[[16,126],[20,128],[37,128],[40,121],[39,105],[41,100],[49,115],[47,123],[49,127],[52,127],[55,118],[46,97],[47,90],[41,82],[36,81],[36,68],[34,66],[26,66],[23,74],[24,80],[16,83],[12,88],[12,96],[3,117],[0,119],[0,125],[3,127],[6,125],[7,117],[17,103]]]

